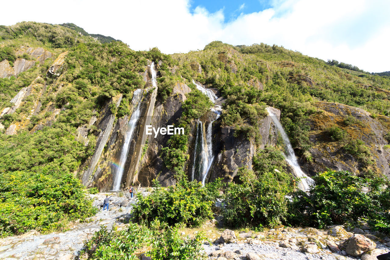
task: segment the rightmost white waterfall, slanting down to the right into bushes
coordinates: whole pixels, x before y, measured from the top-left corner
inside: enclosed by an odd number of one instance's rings
[[[291,146],[290,139],[287,136],[287,134],[284,132],[283,126],[280,124],[278,118],[276,115],[269,109],[269,107],[266,108],[268,111],[269,116],[271,116],[272,121],[275,123],[276,127],[279,130],[280,135],[282,135],[283,142],[285,145],[286,154],[284,155],[286,162],[293,168],[294,173],[296,177],[302,178],[300,180],[300,183],[298,183],[298,188],[302,191],[308,191],[310,185],[314,185],[314,181],[312,178],[307,176],[301,169],[301,167],[298,164],[298,161],[296,160],[295,153],[293,150],[293,147]]]

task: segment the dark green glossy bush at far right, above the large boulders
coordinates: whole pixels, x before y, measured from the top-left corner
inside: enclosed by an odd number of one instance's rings
[[[347,171],[331,170],[313,179],[316,185],[308,194],[300,191],[293,195],[291,224],[324,228],[333,224],[359,226],[360,222],[368,221],[374,223],[373,227],[376,224],[385,225],[383,229],[390,227],[390,197],[388,189],[383,192],[382,179],[360,178]],[[369,187],[370,191],[364,193],[362,187]]]

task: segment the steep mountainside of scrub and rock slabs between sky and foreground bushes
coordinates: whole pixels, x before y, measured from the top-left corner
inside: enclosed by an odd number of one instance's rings
[[[121,42],[106,43],[108,38],[96,41],[71,23],[19,23],[1,27],[0,36],[4,145],[18,135],[66,132],[86,152],[56,167],[87,186],[108,191],[119,174],[121,189],[150,185],[154,178],[172,185],[181,175],[231,181],[239,168],[252,169],[266,146],[285,149],[266,106],[278,109],[310,175],[326,168],[390,174],[386,77],[330,66],[276,45],[213,42],[185,54],[134,52]],[[144,89],[138,106],[132,101],[136,89]],[[199,90],[218,100],[208,102]],[[135,110],[140,114],[129,129]],[[156,128],[183,126],[185,133],[145,135],[146,121]],[[10,168],[18,164],[11,153],[20,146],[13,147],[2,152],[8,171],[20,169]],[[32,171],[53,159],[23,160],[21,167]],[[288,164],[280,165],[291,172]]]

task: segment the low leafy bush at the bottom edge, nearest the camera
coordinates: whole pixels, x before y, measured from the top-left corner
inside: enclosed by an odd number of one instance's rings
[[[180,238],[178,229],[166,223],[152,222],[150,228],[130,223],[127,230],[108,232],[103,227],[85,243],[80,255],[87,259],[138,260],[142,252],[152,259],[207,259],[202,253],[204,236],[196,234],[191,240]],[[145,251],[145,249],[147,249]]]

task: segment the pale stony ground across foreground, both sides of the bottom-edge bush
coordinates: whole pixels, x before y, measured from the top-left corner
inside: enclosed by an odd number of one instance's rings
[[[138,191],[149,193],[149,190],[142,188]],[[112,195],[112,198],[109,210],[103,211],[106,194]],[[123,192],[121,197],[119,195],[116,192],[90,194],[99,212],[82,223],[70,223],[66,232],[41,235],[32,230],[23,235],[0,239],[0,259],[74,259],[83,248],[84,241],[90,239],[102,226],[108,229],[114,224],[118,229],[126,227],[121,221],[129,217],[137,198],[130,198],[128,192]],[[371,231],[367,226],[348,230],[350,232],[343,226],[330,226],[327,230],[279,226],[264,232],[234,232],[220,229],[215,223],[209,221],[202,228],[182,230],[182,235],[189,239],[199,231],[206,234],[210,242],[205,242],[203,246],[211,260],[376,260],[376,255],[390,250],[390,238]],[[142,257],[142,260],[147,259]]]

